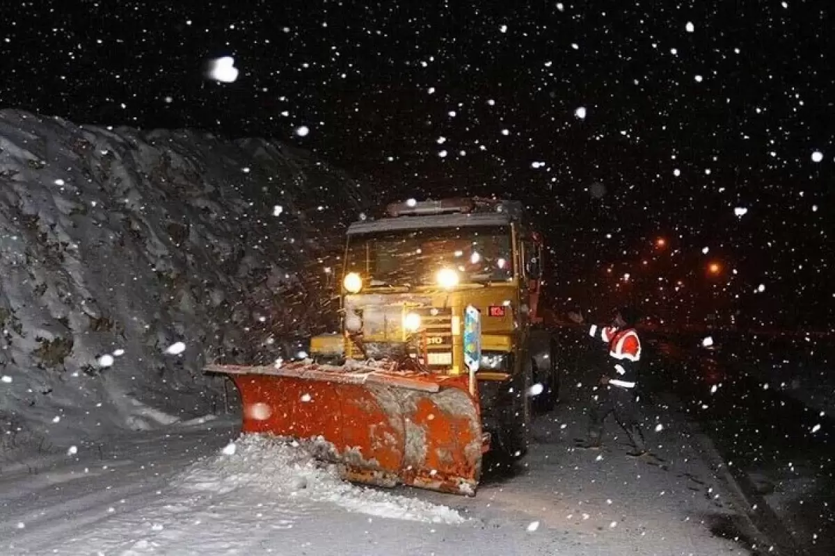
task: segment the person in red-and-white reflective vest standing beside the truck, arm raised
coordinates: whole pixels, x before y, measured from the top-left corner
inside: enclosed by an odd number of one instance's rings
[[[575,323],[582,324],[583,316],[569,313]],[[589,439],[582,448],[600,448],[603,423],[610,413],[623,428],[632,443],[630,455],[640,457],[647,453],[644,433],[640,428],[635,387],[638,384],[640,364],[640,338],[635,324],[638,314],[635,309],[624,307],[615,313],[610,326],[592,324],[589,335],[609,344],[609,361],[606,372],[600,377],[597,403],[591,408]]]

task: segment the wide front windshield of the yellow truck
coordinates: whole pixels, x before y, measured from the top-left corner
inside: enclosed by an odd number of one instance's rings
[[[346,264],[372,287],[432,284],[442,268],[455,270],[460,283],[507,282],[514,275],[509,226],[352,235]]]

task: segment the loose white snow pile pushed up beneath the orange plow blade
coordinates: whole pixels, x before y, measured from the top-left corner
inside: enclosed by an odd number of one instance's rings
[[[195,463],[176,486],[225,494],[250,488],[258,498],[333,503],[352,512],[427,523],[463,523],[460,513],[417,498],[362,488],[339,478],[337,466],[316,461],[299,443],[245,435],[216,458]]]

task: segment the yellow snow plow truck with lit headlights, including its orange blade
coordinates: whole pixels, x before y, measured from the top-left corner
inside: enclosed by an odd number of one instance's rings
[[[392,203],[347,229],[339,333],[303,361],[205,370],[234,381],[242,433],[292,438],[352,482],[472,496],[483,454],[522,458],[558,396],[542,268],[519,202]]]

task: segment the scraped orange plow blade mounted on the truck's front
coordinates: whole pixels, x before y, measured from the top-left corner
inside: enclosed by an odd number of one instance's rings
[[[466,376],[315,363],[210,365],[234,380],[244,433],[310,440],[357,483],[474,495],[483,437]]]

